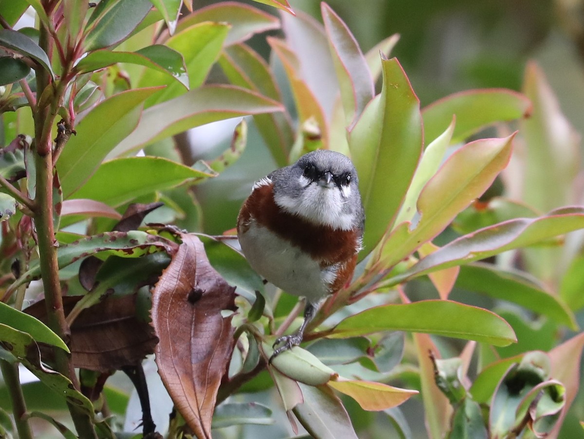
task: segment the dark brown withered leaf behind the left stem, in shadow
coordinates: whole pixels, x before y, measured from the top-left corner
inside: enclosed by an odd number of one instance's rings
[[[137,295],[107,297],[84,309],[71,325],[71,360],[74,367],[98,372],[137,364],[154,352],[157,337],[148,322],[135,316]],[[63,298],[68,314],[82,296]],[[44,299],[25,312],[46,321]],[[43,358],[45,357],[43,349]]]

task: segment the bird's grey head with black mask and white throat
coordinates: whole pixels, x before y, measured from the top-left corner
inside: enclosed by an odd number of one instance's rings
[[[333,229],[363,228],[359,179],[353,163],[326,149],[272,173],[274,201],[291,214]]]

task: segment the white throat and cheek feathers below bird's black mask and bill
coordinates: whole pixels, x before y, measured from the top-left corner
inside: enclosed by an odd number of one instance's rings
[[[304,176],[300,176],[300,185],[303,190],[296,197],[275,194],[276,204],[291,214],[333,229],[350,230],[354,227],[354,214],[343,212],[343,204],[351,193],[349,186],[342,186],[342,189],[334,183],[322,186]]]

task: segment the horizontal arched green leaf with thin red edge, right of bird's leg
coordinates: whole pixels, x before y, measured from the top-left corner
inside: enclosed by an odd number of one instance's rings
[[[447,300],[376,306],[342,320],[328,336],[346,338],[395,330],[477,340],[495,346],[517,341],[513,329],[495,313]]]

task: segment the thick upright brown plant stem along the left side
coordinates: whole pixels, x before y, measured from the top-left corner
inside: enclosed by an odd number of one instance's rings
[[[39,46],[46,53],[51,53],[51,40],[47,29],[40,27]],[[36,70],[37,92],[51,86],[51,78],[48,72],[39,67]],[[60,94],[55,92],[50,102],[37,101],[34,112],[34,162],[36,165],[36,197],[34,204],[34,225],[37,230],[39,246],[39,259],[41,278],[43,279],[44,297],[47,308],[48,326],[65,343],[68,343],[71,332],[65,321],[63,310],[61,284],[59,280],[59,267],[57,263],[57,248],[55,246],[55,231],[53,224],[53,142],[51,141],[51,127],[54,124],[56,112],[51,111],[58,106]],[[79,390],[79,381],[75,375],[75,369],[71,363],[71,357],[64,350],[55,349],[55,369],[65,375],[76,389]],[[79,407],[67,403],[72,420],[77,429],[77,434],[82,438],[97,438],[93,423],[88,414],[82,412]]]

